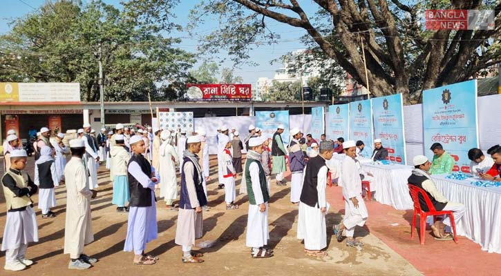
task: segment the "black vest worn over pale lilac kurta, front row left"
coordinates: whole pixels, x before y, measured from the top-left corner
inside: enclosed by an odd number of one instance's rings
[[[135,161],[141,167],[142,172],[148,177],[151,176],[151,165],[142,155],[133,155],[131,159],[129,159],[129,166],[132,161]],[[127,176],[129,178],[129,193],[131,193],[131,200],[129,201],[129,205],[133,207],[149,207],[151,206],[151,189],[144,188],[138,181],[135,179],[130,172],[127,172]],[[156,201],[156,199],[155,199]]]

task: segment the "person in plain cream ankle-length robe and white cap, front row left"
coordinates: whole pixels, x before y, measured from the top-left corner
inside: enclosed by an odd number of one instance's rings
[[[70,255],[69,269],[87,269],[97,262],[97,259],[84,254],[84,246],[94,241],[91,199],[96,196],[96,192],[91,190],[88,183],[88,168],[82,161],[86,154],[85,146],[82,139],[70,141],[71,159],[64,169],[67,214],[64,226],[64,254]]]

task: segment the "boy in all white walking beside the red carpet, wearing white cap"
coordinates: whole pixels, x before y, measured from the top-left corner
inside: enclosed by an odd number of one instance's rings
[[[334,226],[334,235],[341,242],[343,230],[346,230],[346,246],[361,248],[363,242],[353,237],[355,226],[363,226],[368,218],[366,204],[362,198],[362,180],[357,166],[357,145],[355,141],[345,141],[343,150],[346,154],[341,163],[341,176],[339,186],[343,186],[345,200],[345,215],[340,224]]]

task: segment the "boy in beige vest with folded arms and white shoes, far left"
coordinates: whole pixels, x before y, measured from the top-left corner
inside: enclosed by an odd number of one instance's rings
[[[26,172],[26,150],[10,152],[10,169],[2,177],[6,197],[7,220],[1,250],[6,252],[5,270],[23,270],[33,262],[26,259],[28,242],[38,242],[37,217],[30,199],[37,186]],[[21,235],[21,233],[23,235]]]

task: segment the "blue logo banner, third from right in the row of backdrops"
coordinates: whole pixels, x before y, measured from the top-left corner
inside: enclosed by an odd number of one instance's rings
[[[346,140],[346,137],[344,137]],[[366,155],[372,155],[374,140],[372,135],[372,108],[370,99],[350,103],[350,140],[361,140],[366,147]]]

